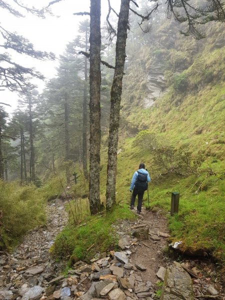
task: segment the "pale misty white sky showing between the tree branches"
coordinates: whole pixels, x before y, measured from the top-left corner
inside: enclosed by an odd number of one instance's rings
[[[48,4],[48,0],[23,0],[22,3],[27,6],[34,6],[41,8]],[[107,13],[107,0],[101,1],[101,15],[102,25]],[[120,0],[111,0],[111,5],[117,11],[119,10]],[[15,17],[8,13],[5,9],[0,9],[0,25],[4,29],[9,31],[16,31],[18,34],[28,38],[30,42],[34,44],[35,49],[42,51],[51,51],[56,55],[59,55],[65,49],[65,45],[68,41],[74,39],[77,34],[77,27],[80,21],[88,18],[88,16],[74,16],[73,12],[89,11],[89,0],[62,0],[59,3],[51,5],[51,10],[54,16],[46,15],[45,19],[38,18],[31,13],[26,13],[24,10],[19,9],[13,4],[12,0],[7,0],[7,3],[12,7],[22,12],[25,17]],[[0,36],[0,43],[3,43],[3,39]],[[4,49],[1,49],[1,52]],[[55,75],[55,66],[57,61],[40,61],[33,59],[26,55],[16,54],[14,51],[7,50],[14,61],[26,66],[35,67],[36,70],[42,72],[46,78],[50,78]],[[41,90],[44,86],[44,82],[41,80],[35,80],[35,84],[39,86]],[[7,108],[11,111],[16,108],[16,99],[18,98],[16,92],[9,92],[7,90],[1,91],[1,100],[12,105],[12,108]]]

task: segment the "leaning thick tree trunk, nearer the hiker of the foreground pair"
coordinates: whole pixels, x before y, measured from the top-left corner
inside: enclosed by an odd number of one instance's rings
[[[111,107],[108,136],[108,163],[106,183],[106,210],[115,204],[115,176],[118,148],[119,110],[122,93],[122,77],[125,63],[129,1],[121,0],[115,46],[115,70],[111,86]]]

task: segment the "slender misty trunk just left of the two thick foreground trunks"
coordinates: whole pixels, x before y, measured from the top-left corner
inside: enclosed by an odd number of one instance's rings
[[[85,31],[85,51],[87,51],[87,28]],[[87,171],[87,150],[86,150],[86,132],[87,132],[87,58],[84,57],[84,86],[83,86],[83,132],[82,132],[82,163],[83,163],[83,174],[84,177],[88,178]]]

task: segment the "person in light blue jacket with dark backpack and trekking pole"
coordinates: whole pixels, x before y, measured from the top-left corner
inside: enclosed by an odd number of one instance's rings
[[[139,164],[139,168],[137,171],[133,173],[131,184],[129,187],[130,192],[132,192],[131,195],[131,201],[130,201],[130,209],[133,209],[134,202],[136,195],[138,197],[138,203],[137,203],[137,213],[140,214],[141,212],[141,205],[143,200],[143,194],[144,191],[147,189],[147,182],[150,182],[150,176],[148,174],[148,171],[145,170],[144,163]]]

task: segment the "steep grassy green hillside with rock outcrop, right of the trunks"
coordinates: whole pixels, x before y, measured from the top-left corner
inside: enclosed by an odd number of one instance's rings
[[[152,175],[153,209],[167,213],[171,191],[180,193],[178,215],[168,214],[171,240],[181,240],[182,251],[223,260],[224,25],[211,24],[206,33],[196,41],[181,36],[174,22],[161,21],[139,44],[129,40],[121,116],[130,127],[147,131],[120,139],[117,195],[129,202],[132,172],[144,161]],[[173,164],[189,159],[190,168],[199,164],[196,172],[184,174],[166,169],[160,159]]]

